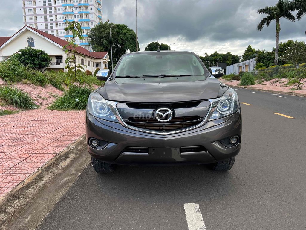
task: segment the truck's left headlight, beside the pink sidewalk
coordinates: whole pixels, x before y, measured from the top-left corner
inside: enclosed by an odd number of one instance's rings
[[[110,110],[105,99],[97,92],[92,92],[88,98],[88,112],[106,121],[118,122],[115,114]]]

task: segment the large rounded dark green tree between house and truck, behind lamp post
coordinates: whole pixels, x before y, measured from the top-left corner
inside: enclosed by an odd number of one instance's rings
[[[88,33],[88,37],[89,44],[92,45],[94,51],[110,52],[110,27],[112,25],[112,49],[115,66],[119,58],[128,51],[136,52],[136,33],[127,25],[104,22],[93,27]]]

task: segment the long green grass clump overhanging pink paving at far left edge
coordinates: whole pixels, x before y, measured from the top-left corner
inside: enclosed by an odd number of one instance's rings
[[[1,86],[0,99],[9,105],[14,105],[19,109],[37,109],[38,105],[29,94],[19,90],[17,87]]]

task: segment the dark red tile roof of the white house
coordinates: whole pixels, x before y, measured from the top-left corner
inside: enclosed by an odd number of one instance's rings
[[[45,32],[43,32],[43,31],[41,31],[41,30],[39,30],[39,29],[35,29],[35,28],[30,27],[30,26],[27,26],[27,25],[24,26],[24,27],[28,27],[28,28],[30,28],[30,29],[36,31],[36,32],[39,33],[40,35],[42,35],[42,36],[44,36],[44,37],[50,39],[51,41],[54,41],[55,43],[59,44],[60,46],[65,46],[65,45],[68,44],[68,41],[63,40],[63,39],[61,39],[61,38],[59,38],[59,37],[53,36],[53,35],[51,35],[51,34],[45,33]],[[24,27],[22,27],[19,31],[21,31]],[[19,31],[17,31],[15,34],[17,34]],[[14,34],[14,35],[15,35],[15,34]],[[13,35],[13,36],[14,36],[14,35]],[[1,46],[2,44],[4,44],[7,40],[9,40],[10,38],[11,38],[11,37],[0,37],[0,46]],[[68,46],[68,48],[69,48],[69,46]],[[70,47],[69,49],[71,50],[71,47]],[[107,54],[107,52],[89,52],[87,49],[85,49],[85,48],[83,48],[83,47],[81,47],[81,46],[78,46],[78,47],[76,48],[76,52],[81,53],[81,54],[86,55],[86,56],[89,56],[89,57],[93,57],[93,58],[104,58],[105,55]],[[104,55],[103,55],[103,54],[104,54]]]

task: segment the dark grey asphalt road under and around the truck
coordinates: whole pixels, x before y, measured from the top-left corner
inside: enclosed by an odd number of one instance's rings
[[[118,166],[101,175],[89,165],[37,229],[186,230],[184,204],[199,204],[194,218],[207,230],[305,229],[306,98],[237,93],[242,148],[230,171]]]

